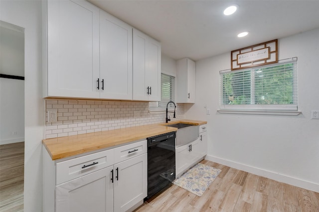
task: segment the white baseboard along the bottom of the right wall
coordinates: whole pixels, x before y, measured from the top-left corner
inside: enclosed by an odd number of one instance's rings
[[[253,167],[253,166],[249,166],[249,165],[245,165],[245,164],[241,164],[235,161],[231,161],[231,160],[227,160],[227,159],[223,159],[223,158],[219,158],[219,157],[215,157],[212,155],[206,155],[205,156],[206,160],[210,160],[212,162],[216,162],[216,163],[220,163],[222,165],[226,165],[232,168],[236,168],[242,171],[246,171],[249,172],[251,174],[255,174],[258,176],[262,176],[262,177],[266,177],[272,180],[276,180],[282,183],[287,183],[289,185],[293,185],[293,186],[297,186],[300,188],[304,188],[307,190],[311,190],[314,192],[319,192],[319,184],[313,183],[313,182],[309,182],[309,181],[305,181],[305,180],[301,180],[298,178],[294,178],[291,176],[287,176],[287,175],[283,175],[283,174],[278,174],[269,170],[264,170],[261,168],[257,168],[257,167]]]

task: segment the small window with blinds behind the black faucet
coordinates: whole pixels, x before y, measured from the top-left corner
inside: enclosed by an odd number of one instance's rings
[[[161,73],[161,101],[150,102],[150,108],[158,107],[166,109],[169,101],[175,102],[175,77]],[[168,105],[174,107],[174,105]]]

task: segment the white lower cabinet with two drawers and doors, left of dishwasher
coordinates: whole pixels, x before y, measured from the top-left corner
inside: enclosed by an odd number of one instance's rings
[[[44,154],[45,212],[127,212],[147,197],[147,141],[60,162]]]

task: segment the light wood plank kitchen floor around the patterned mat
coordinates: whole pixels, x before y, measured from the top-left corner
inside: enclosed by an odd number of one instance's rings
[[[201,197],[172,185],[135,212],[319,212],[319,193],[208,160],[221,169]]]

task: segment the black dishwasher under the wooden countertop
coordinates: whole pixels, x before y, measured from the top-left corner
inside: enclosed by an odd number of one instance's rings
[[[175,132],[148,138],[148,196],[175,180]]]

